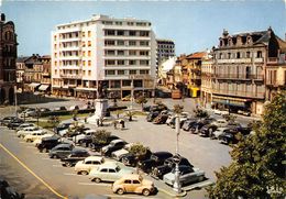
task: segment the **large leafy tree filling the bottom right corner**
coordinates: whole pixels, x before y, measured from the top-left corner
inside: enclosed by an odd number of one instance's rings
[[[231,152],[232,163],[216,173],[210,198],[284,198],[286,154],[286,91],[265,106],[254,134],[241,136]]]

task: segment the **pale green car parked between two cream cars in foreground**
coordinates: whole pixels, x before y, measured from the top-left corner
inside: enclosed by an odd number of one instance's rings
[[[95,183],[116,181],[128,174],[133,174],[134,170],[128,167],[120,167],[117,163],[109,162],[91,169],[89,179]]]

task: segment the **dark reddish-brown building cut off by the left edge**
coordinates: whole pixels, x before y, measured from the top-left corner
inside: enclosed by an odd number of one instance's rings
[[[16,34],[14,23],[0,16],[0,104],[14,101]]]

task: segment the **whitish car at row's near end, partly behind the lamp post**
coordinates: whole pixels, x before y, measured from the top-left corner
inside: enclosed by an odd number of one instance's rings
[[[179,183],[182,186],[191,183],[202,181],[205,179],[205,172],[199,168],[182,165],[179,166]],[[174,186],[175,183],[175,169],[163,176],[163,181],[169,186]]]

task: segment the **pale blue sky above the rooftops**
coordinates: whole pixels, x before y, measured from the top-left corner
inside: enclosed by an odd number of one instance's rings
[[[176,55],[217,46],[223,29],[286,33],[286,0],[0,0],[0,12],[15,24],[19,56],[50,55],[56,25],[92,14],[147,20],[157,38],[175,42]]]

